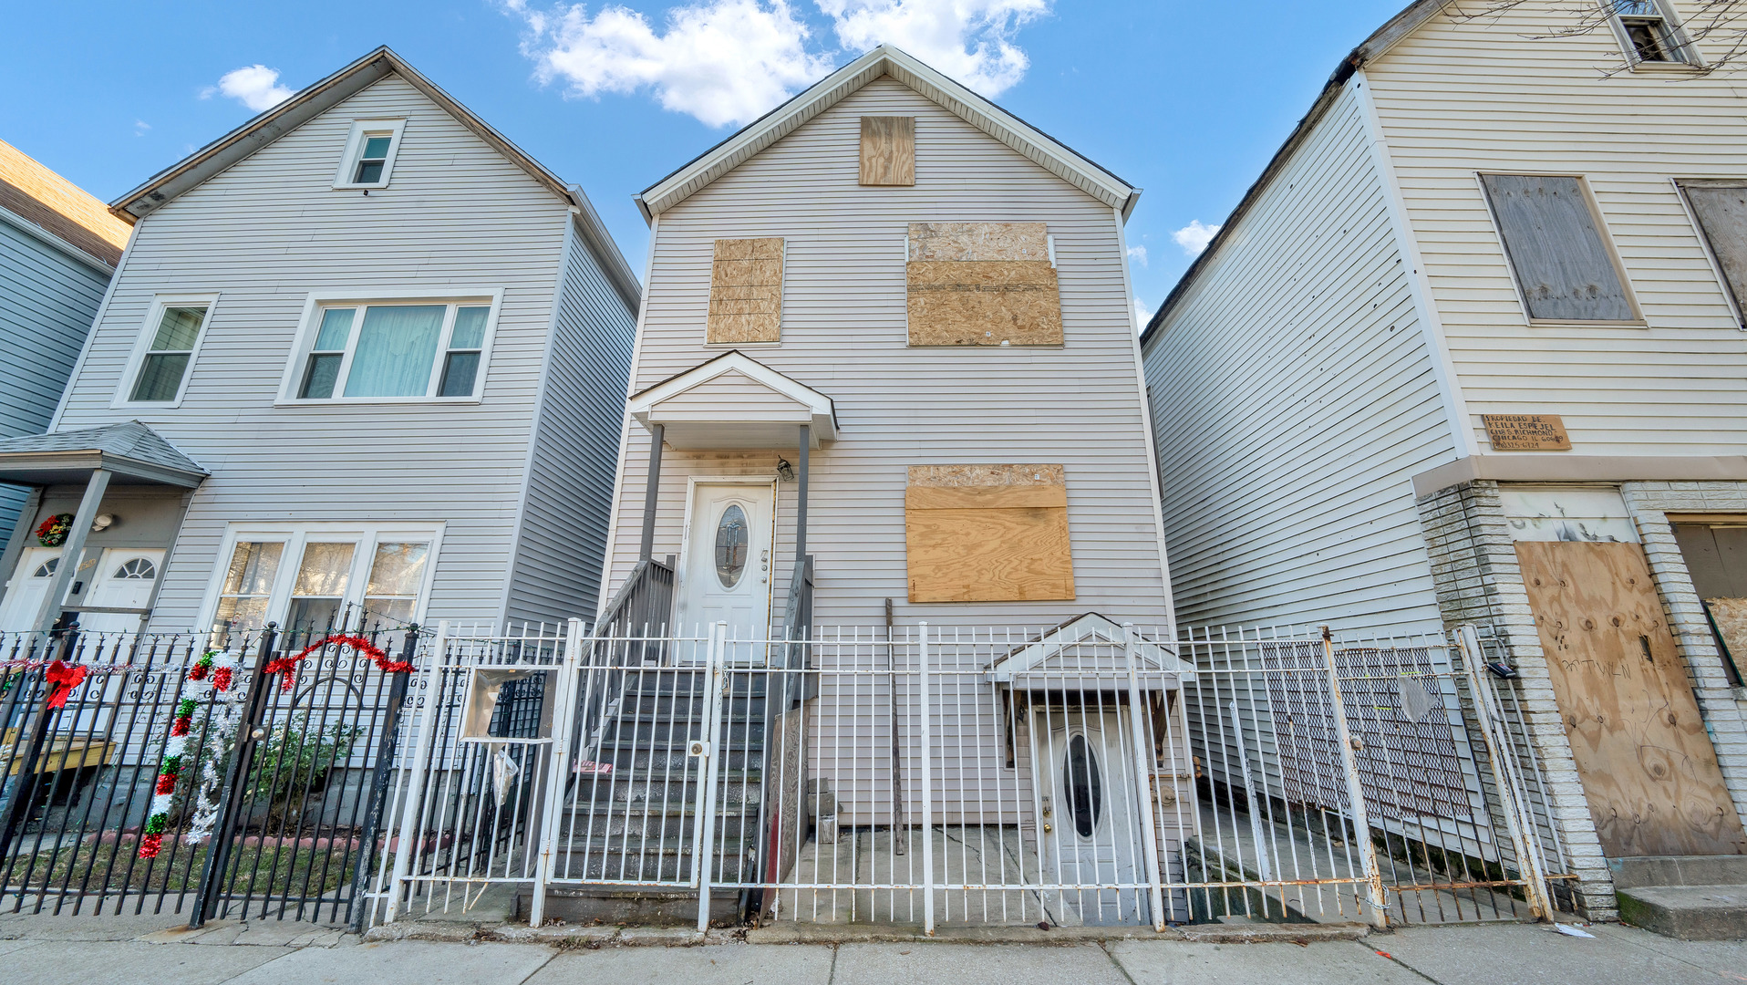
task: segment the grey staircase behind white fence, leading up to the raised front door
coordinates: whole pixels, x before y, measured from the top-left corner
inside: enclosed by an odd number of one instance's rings
[[[716,742],[711,880],[741,880],[756,845],[763,781],[763,681],[730,678]],[[599,727],[596,760],[611,774],[580,775],[559,817],[545,913],[564,922],[694,924],[690,889],[706,763],[688,754],[708,734],[706,674],[660,669],[625,674],[615,714]],[[625,885],[634,880],[669,885]],[[526,894],[524,894],[526,896]],[[526,915],[528,899],[517,901]],[[735,920],[739,892],[711,894],[711,919]]]

